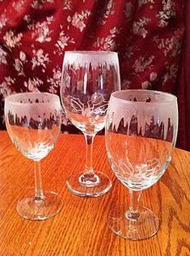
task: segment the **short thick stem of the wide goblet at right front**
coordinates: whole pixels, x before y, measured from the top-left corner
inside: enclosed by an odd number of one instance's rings
[[[129,189],[129,210],[126,212],[126,217],[130,220],[137,220],[140,216],[138,206],[141,199],[141,190],[134,191]]]

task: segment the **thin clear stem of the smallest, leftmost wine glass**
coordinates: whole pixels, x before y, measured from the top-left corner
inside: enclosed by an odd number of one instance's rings
[[[41,170],[40,170],[40,161],[34,162],[35,170],[35,201],[44,200],[44,192],[41,182]]]

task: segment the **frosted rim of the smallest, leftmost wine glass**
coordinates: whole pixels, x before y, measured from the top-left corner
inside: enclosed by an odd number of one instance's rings
[[[53,93],[45,93],[45,92],[33,92],[33,93],[31,93],[31,92],[26,92],[26,93],[13,93],[13,94],[11,94],[11,95],[9,95],[9,96],[6,96],[6,98],[5,98],[5,101],[6,102],[9,102],[9,103],[11,103],[11,104],[14,104],[14,105],[16,105],[16,106],[23,106],[23,105],[25,105],[25,106],[27,106],[27,105],[31,105],[31,104],[33,104],[33,105],[45,105],[45,104],[49,104],[50,102],[13,102],[13,100],[15,99],[15,98],[17,98],[17,97],[19,97],[19,96],[23,96],[23,95],[25,95],[26,97],[28,96],[30,96],[30,95],[47,95],[47,96],[50,96],[51,98],[54,98],[54,99],[59,99],[59,102],[60,102],[60,98],[59,98],[59,96],[58,95],[56,95],[56,94],[53,94]]]

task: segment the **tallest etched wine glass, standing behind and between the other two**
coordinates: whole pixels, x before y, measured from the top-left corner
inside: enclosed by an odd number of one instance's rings
[[[95,134],[104,128],[110,95],[119,89],[119,61],[115,52],[65,52],[61,101],[70,121],[86,140],[84,171],[66,181],[68,189],[78,196],[98,197],[112,188],[108,176],[92,166],[92,144]]]

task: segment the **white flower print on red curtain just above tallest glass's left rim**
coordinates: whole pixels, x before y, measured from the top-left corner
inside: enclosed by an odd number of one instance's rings
[[[68,46],[68,43],[72,43],[74,44],[74,38],[70,38],[70,36],[65,35],[64,31],[63,31],[63,26],[60,25],[61,28],[61,33],[59,33],[59,38],[55,44],[55,46],[57,47],[57,50],[53,51],[53,54],[63,54],[64,53],[64,49],[65,46]]]

